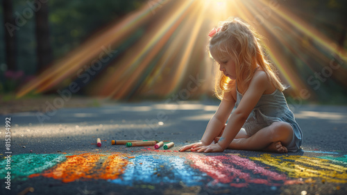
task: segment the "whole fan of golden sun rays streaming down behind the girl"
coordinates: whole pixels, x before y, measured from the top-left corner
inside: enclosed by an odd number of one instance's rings
[[[189,91],[194,96],[212,95],[214,68],[205,49],[208,32],[228,17],[240,17],[263,35],[266,55],[291,86],[287,94],[298,96],[308,89],[314,95],[316,80],[310,79],[317,74],[347,86],[346,49],[289,12],[283,2],[150,2],[92,35],[26,83],[17,97],[75,88],[111,99],[163,98],[188,85],[196,89]],[[190,86],[192,77],[205,82]]]

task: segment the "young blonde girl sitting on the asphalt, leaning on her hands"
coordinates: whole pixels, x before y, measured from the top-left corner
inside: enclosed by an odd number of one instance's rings
[[[221,103],[201,142],[180,151],[298,151],[301,128],[282,93],[285,87],[264,58],[257,33],[234,18],[212,29],[209,36],[210,54],[219,63],[215,92]]]

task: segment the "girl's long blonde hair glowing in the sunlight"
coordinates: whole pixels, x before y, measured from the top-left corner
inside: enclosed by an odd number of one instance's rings
[[[218,99],[223,99],[223,94],[234,89],[236,83],[240,91],[246,92],[257,65],[278,90],[285,90],[272,65],[264,58],[259,41],[255,30],[238,18],[221,23],[221,30],[210,39],[208,50],[214,60],[235,60],[236,79],[232,80],[224,76],[222,71],[217,71],[214,92]]]

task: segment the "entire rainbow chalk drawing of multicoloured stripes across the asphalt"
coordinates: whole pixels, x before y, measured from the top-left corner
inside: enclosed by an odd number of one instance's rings
[[[175,155],[176,154],[176,155]],[[153,153],[19,154],[11,157],[11,179],[38,176],[63,183],[76,180],[108,180],[118,185],[180,183],[187,186],[249,185],[282,186],[310,183],[319,178],[327,183],[347,183],[347,155],[311,158],[300,155],[242,157],[240,155]],[[2,158],[0,166],[6,167]],[[5,174],[6,169],[0,169]],[[298,180],[303,178],[303,180]]]

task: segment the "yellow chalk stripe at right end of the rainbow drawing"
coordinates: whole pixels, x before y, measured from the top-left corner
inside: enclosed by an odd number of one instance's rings
[[[331,183],[347,183],[347,167],[332,164],[330,160],[301,155],[272,156],[269,154],[251,157],[251,160],[276,167],[292,178],[323,178]]]

